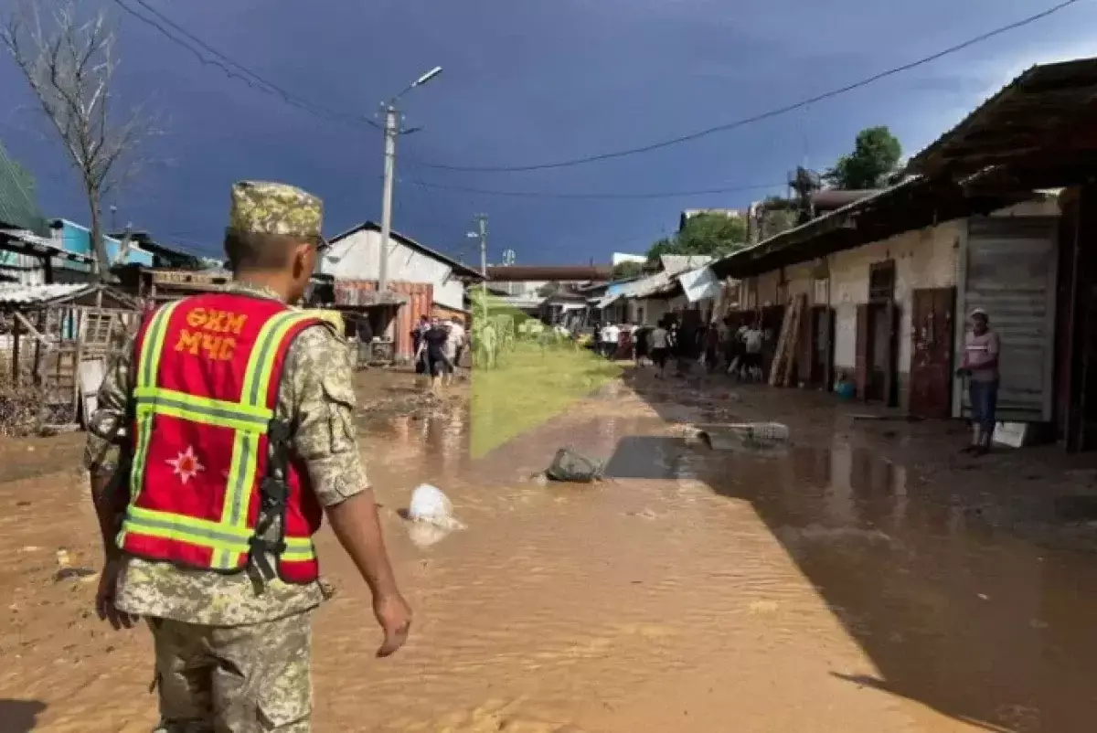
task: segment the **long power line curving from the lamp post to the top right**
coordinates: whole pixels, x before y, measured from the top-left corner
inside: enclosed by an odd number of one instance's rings
[[[583,156],[579,158],[568,158],[565,160],[557,160],[554,162],[531,163],[528,166],[449,166],[442,163],[432,163],[423,160],[417,160],[410,156],[404,156],[404,159],[411,160],[417,165],[422,166],[423,168],[434,168],[438,170],[479,172],[479,173],[504,173],[504,172],[521,172],[531,170],[548,170],[554,168],[570,168],[573,166],[581,166],[586,163],[598,162],[601,160],[611,160],[614,158],[624,158],[626,156],[638,155],[642,153],[651,153],[653,150],[658,150],[660,148],[670,147],[672,145],[680,145],[681,143],[688,143],[690,140],[695,140],[701,137],[706,137],[715,133],[722,133],[731,129],[736,129],[738,127],[745,127],[746,125],[750,125],[756,122],[761,122],[762,120],[769,120],[770,117],[777,117],[782,114],[788,114],[789,112],[793,112],[810,104],[815,104],[816,102],[822,102],[823,100],[830,99],[833,97],[838,97],[839,94],[845,94],[846,92],[853,91],[855,89],[867,87],[871,83],[880,81],[881,79],[886,79],[887,77],[895,76],[896,74],[902,74],[903,71],[909,71],[911,69],[917,68],[919,66],[925,66],[926,64],[930,64],[945,56],[949,56],[957,52],[963,50],[964,48],[974,46],[975,44],[988,41],[989,38],[1002,35],[1004,33],[1008,33],[1010,31],[1016,31],[1017,29],[1024,27],[1039,20],[1043,20],[1044,18],[1058,13],[1059,11],[1064,10],[1077,2],[1078,0],[1063,0],[1063,2],[1060,2],[1059,4],[1053,5],[1039,13],[1036,13],[1034,15],[1029,15],[1028,18],[1015,21],[1007,25],[1003,25],[1000,27],[994,29],[993,31],[987,31],[986,33],[977,35],[973,38],[969,38],[963,43],[959,43],[954,46],[949,46],[943,50],[930,54],[929,56],[924,56],[915,61],[911,61],[902,66],[892,67],[886,71],[881,71],[880,74],[875,74],[871,77],[861,79],[860,81],[855,81],[853,83],[846,84],[845,87],[840,87],[838,89],[832,89],[830,91],[823,92],[822,94],[816,94],[815,97],[804,99],[799,102],[794,102],[792,104],[787,104],[785,106],[769,110],[767,112],[755,114],[749,117],[743,117],[742,120],[736,120],[734,122],[728,122],[722,125],[715,125],[713,127],[699,129],[697,132],[689,133],[687,135],[680,135],[678,137],[659,140],[656,143],[649,143],[647,145],[642,145],[640,147],[624,148],[621,150],[613,150],[611,153],[600,153],[596,155]]]

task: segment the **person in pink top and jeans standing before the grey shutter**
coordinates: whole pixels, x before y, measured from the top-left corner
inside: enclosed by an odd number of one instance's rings
[[[991,450],[998,407],[998,354],[1002,343],[991,330],[991,319],[983,308],[971,312],[971,330],[964,341],[958,376],[968,377],[971,401],[972,436],[965,453],[983,455]]]

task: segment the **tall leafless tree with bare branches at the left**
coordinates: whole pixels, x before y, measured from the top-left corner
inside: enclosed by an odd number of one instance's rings
[[[39,4],[55,5],[43,22]],[[137,150],[157,133],[140,108],[120,119],[111,90],[118,68],[117,36],[100,10],[81,20],[77,0],[20,0],[0,27],[2,44],[23,71],[80,177],[91,213],[91,241],[100,280],[110,261],[101,203],[140,169]]]

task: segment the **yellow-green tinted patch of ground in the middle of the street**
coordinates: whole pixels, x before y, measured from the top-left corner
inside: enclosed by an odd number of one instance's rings
[[[472,454],[479,458],[566,410],[621,368],[570,341],[518,339],[472,373]]]

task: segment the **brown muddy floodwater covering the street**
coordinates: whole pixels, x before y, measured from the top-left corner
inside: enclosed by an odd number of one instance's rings
[[[964,498],[977,464],[934,473],[818,425],[769,451],[693,444],[679,422],[738,409],[702,403],[618,384],[476,461],[466,410],[372,422],[362,451],[416,621],[376,661],[369,594],[325,530],[338,594],[316,618],[315,730],[1097,730],[1092,551]],[[0,483],[2,733],[155,721],[147,632],[91,614],[77,443],[0,449],[19,466]],[[531,478],[564,444],[607,460],[607,481]],[[48,456],[37,472],[27,448]],[[400,510],[420,483],[466,529],[415,535]]]

